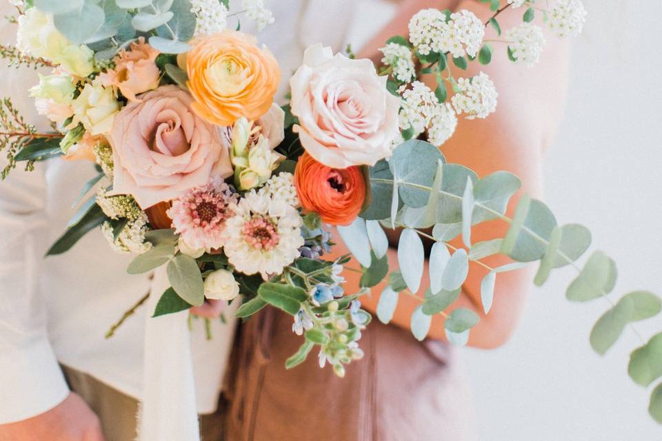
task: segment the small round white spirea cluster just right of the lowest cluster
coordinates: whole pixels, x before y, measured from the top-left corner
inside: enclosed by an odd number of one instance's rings
[[[481,72],[472,78],[457,80],[457,89],[452,98],[453,107],[458,114],[468,114],[467,119],[487,118],[496,110],[496,93],[490,77]]]

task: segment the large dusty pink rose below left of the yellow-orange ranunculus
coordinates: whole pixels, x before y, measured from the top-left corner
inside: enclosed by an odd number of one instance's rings
[[[170,201],[213,176],[232,175],[218,127],[191,110],[192,97],[167,85],[140,96],[115,116],[112,194],[132,194],[144,209]]]

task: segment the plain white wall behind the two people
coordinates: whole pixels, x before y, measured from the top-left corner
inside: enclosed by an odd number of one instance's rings
[[[574,40],[565,121],[545,158],[545,202],[559,223],[590,227],[616,259],[615,294],[662,294],[662,1],[584,0],[589,20]],[[392,13],[370,10],[360,42]],[[392,4],[392,3],[391,3]],[[380,17],[381,14],[381,17]],[[519,329],[496,351],[463,349],[473,381],[480,441],[648,441],[662,426],[648,416],[650,391],[627,373],[639,340],[626,331],[604,357],[588,343],[608,309],[571,304],[572,269],[534,289]],[[648,340],[662,319],[637,325]]]

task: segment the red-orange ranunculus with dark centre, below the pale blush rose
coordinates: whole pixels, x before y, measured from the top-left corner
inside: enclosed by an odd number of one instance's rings
[[[365,202],[361,167],[327,167],[304,153],[294,172],[301,206],[318,213],[325,223],[349,225],[359,216]]]

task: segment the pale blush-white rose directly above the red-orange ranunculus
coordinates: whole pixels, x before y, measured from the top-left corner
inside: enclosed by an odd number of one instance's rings
[[[290,79],[294,131],[305,150],[332,168],[374,165],[399,134],[400,101],[386,90],[372,61],[310,46]]]

